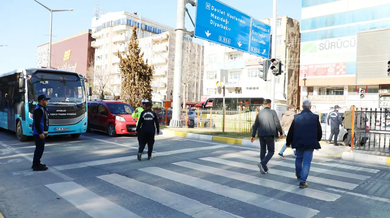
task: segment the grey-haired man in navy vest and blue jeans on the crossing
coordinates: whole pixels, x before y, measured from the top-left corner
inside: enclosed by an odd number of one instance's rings
[[[295,115],[286,138],[286,146],[296,149],[295,175],[299,180],[299,187],[307,187],[307,176],[310,171],[310,163],[313,159],[314,149],[320,149],[319,141],[322,138],[322,128],[319,116],[312,113],[312,103],[303,101],[303,110]]]

